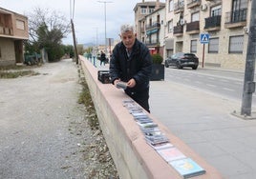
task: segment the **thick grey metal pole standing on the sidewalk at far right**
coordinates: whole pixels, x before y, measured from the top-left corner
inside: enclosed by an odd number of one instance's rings
[[[245,61],[245,80],[241,115],[251,116],[252,93],[255,91],[254,71],[256,58],[256,0],[251,0],[248,43]]]

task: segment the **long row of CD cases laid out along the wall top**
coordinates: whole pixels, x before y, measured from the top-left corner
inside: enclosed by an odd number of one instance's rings
[[[204,174],[206,171],[194,160],[186,157],[180,149],[177,149],[162,133],[155,123],[134,100],[122,101],[123,106],[128,109],[143,132],[146,143],[155,149],[163,160],[173,169],[176,169],[183,178],[190,178]]]

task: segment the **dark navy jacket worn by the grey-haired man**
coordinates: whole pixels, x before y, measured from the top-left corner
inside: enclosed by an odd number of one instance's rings
[[[139,92],[149,88],[149,80],[152,70],[152,58],[148,48],[138,39],[133,46],[132,53],[128,58],[126,48],[119,42],[113,50],[110,60],[111,82],[115,79],[128,82],[131,78],[136,81],[136,86],[126,89],[126,92]]]

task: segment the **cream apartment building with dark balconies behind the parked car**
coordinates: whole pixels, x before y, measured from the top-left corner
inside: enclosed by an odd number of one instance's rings
[[[164,30],[158,30],[163,32],[159,35],[163,36],[163,58],[179,51],[193,52],[204,66],[245,69],[250,7],[251,0],[165,0],[165,18],[159,27]],[[150,18],[135,18],[145,34],[142,22]],[[146,42],[143,30],[139,38]],[[202,34],[209,37],[207,44],[201,43]]]

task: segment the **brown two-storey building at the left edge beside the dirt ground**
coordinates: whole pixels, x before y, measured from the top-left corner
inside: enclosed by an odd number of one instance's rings
[[[23,63],[23,41],[29,39],[28,18],[0,8],[0,67]]]

